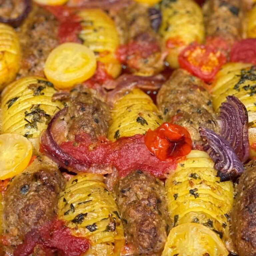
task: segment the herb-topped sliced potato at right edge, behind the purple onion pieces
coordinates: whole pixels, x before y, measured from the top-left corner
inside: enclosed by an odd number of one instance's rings
[[[216,111],[228,95],[237,97],[246,107],[249,119],[250,157],[256,156],[256,66],[229,63],[218,72],[213,83],[213,107]]]

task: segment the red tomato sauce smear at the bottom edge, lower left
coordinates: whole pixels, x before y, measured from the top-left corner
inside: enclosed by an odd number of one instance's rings
[[[52,255],[58,252],[61,256],[80,256],[90,246],[88,239],[71,235],[70,229],[57,219],[27,233],[24,242],[14,251],[14,256],[28,256],[36,245],[47,251],[48,256],[51,256],[51,252]]]

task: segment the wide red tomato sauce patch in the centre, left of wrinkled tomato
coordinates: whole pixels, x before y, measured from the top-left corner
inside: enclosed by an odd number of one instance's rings
[[[74,146],[72,141],[63,142],[62,150],[91,167],[110,166],[117,168],[119,176],[124,177],[131,171],[140,169],[156,177],[176,168],[176,160],[161,161],[147,149],[144,136],[137,134],[132,137],[122,137],[115,142],[99,142],[93,149],[89,149],[90,141],[80,142]],[[43,146],[44,150],[49,150]]]

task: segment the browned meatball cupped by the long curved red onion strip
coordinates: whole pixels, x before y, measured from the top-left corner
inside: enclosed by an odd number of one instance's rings
[[[68,139],[75,135],[89,134],[92,141],[106,136],[111,120],[110,108],[96,94],[95,90],[77,86],[72,90],[65,121],[68,125]]]

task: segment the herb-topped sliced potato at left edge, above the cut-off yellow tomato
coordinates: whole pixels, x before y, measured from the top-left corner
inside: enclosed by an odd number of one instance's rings
[[[37,138],[63,107],[52,102],[55,92],[53,84],[41,77],[24,77],[7,86],[2,92],[2,132]]]

